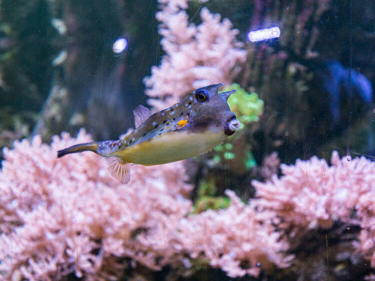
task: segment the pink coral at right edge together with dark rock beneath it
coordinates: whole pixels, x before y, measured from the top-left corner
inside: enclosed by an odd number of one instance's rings
[[[340,158],[333,151],[330,166],[313,156],[280,168],[280,177],[273,174],[266,182],[251,182],[256,189],[252,204],[258,211],[276,213],[278,229],[296,254],[294,265],[280,276],[349,280],[352,274],[371,272],[361,256],[375,268],[375,162],[364,156]],[[324,246],[319,239],[325,240]],[[326,264],[319,264],[324,250]],[[306,259],[310,269],[303,265]]]

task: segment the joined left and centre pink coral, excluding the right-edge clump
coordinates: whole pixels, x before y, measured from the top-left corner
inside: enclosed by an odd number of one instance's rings
[[[257,275],[260,268],[286,266],[290,259],[269,221],[232,191],[225,210],[191,212],[181,162],[131,167],[119,184],[92,152],[56,159],[56,151],[89,141],[35,136],[4,149],[0,172],[0,276],[56,279],[74,273],[87,279],[117,279],[130,265],[158,270],[208,260],[230,276]],[[260,266],[257,266],[259,263]]]

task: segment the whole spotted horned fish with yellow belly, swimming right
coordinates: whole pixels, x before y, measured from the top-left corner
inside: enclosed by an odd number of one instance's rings
[[[218,93],[222,83],[193,90],[183,100],[151,114],[138,105],[135,129],[118,140],[91,141],[57,151],[93,151],[107,158],[107,170],[121,183],[130,180],[130,165],[158,165],[198,156],[223,142],[240,126],[227,99],[236,90]]]

